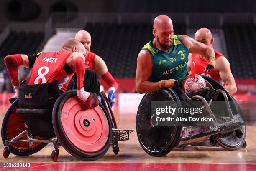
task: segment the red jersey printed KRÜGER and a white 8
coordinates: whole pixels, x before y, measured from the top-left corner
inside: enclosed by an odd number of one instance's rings
[[[58,80],[59,89],[67,90],[72,74],[67,74],[63,67],[72,52],[42,52],[33,65],[28,84],[51,83]]]

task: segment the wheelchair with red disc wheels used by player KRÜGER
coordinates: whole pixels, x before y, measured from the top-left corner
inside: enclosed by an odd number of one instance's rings
[[[40,93],[40,88],[34,95],[36,93]],[[111,143],[113,152],[118,154],[118,141],[128,140],[129,133],[134,130],[118,129],[105,92],[99,95],[102,101],[95,108],[77,98],[77,90],[62,93],[55,98],[53,106],[45,108],[26,108],[26,105],[21,108],[21,102],[16,99],[3,119],[1,133],[5,146],[4,158],[8,158],[10,153],[17,156],[34,154],[48,143],[54,146],[52,161],[58,159],[59,146],[84,161],[97,160],[103,156]],[[22,90],[20,96],[24,96]],[[41,103],[40,97],[26,97]],[[49,96],[47,98],[50,99]]]

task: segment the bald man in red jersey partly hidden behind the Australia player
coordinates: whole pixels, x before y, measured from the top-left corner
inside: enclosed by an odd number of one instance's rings
[[[212,38],[212,33],[207,28],[201,28],[197,30],[195,33],[195,40],[198,42],[204,43],[205,45],[210,46],[212,49],[212,44],[214,42],[214,38]],[[231,73],[230,64],[228,60],[219,53],[214,50],[216,65],[215,68],[210,72],[205,73],[205,68],[208,64],[207,58],[199,54],[189,54],[189,61],[187,63],[188,71],[191,74],[205,75],[209,76],[212,79],[218,81],[220,84],[225,86],[226,90],[230,95],[236,93],[236,82]]]

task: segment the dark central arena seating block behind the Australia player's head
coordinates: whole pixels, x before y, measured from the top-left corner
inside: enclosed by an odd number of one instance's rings
[[[186,34],[184,25],[174,25],[174,33]],[[87,23],[84,29],[92,36],[91,51],[103,58],[115,78],[135,78],[138,53],[154,38],[151,23]]]

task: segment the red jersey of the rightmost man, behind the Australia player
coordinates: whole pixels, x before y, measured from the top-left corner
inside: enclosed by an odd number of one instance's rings
[[[224,56],[218,51],[214,50],[215,58],[218,59],[220,56]],[[213,68],[210,72],[205,73],[206,66],[208,65],[208,59],[201,59],[199,54],[192,54],[191,57],[191,74],[205,75],[210,77],[216,81],[218,81],[221,85],[225,86],[223,80],[221,80],[220,75],[216,73],[215,68]]]

